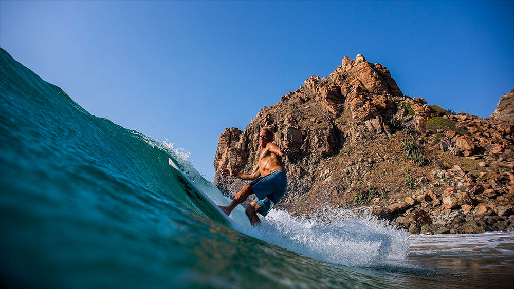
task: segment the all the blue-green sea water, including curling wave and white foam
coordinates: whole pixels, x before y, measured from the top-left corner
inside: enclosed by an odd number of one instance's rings
[[[13,288],[511,287],[514,233],[409,236],[373,218],[206,218],[185,150],[91,115],[0,49],[0,285]]]

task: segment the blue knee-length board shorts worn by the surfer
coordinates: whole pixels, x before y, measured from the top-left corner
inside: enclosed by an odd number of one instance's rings
[[[253,194],[257,196],[253,201],[261,207],[259,213],[266,216],[273,205],[280,201],[280,198],[286,192],[286,173],[283,170],[273,171],[267,176],[253,180],[250,186]]]

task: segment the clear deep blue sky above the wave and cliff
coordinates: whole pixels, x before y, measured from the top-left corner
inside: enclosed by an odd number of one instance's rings
[[[514,87],[513,1],[0,1],[0,46],[90,113],[169,139],[212,180],[217,140],[362,53],[404,94],[488,117]]]

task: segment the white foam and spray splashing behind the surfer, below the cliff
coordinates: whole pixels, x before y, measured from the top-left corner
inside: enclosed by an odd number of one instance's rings
[[[258,227],[243,233],[320,261],[345,266],[382,266],[405,260],[408,235],[374,218],[325,210],[311,219],[272,209]]]

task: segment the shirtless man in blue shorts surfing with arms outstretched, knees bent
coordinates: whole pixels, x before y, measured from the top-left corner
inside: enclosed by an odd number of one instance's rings
[[[271,207],[284,195],[287,188],[287,178],[282,157],[289,152],[288,149],[278,146],[273,141],[273,133],[269,129],[262,129],[259,133],[261,155],[259,163],[251,174],[233,171],[232,168],[222,169],[222,175],[234,176],[243,180],[253,180],[235,195],[228,206],[219,206],[225,214],[230,215],[232,210],[246,201],[251,194],[256,198],[246,208],[246,216],[252,225],[261,222],[256,213],[265,217]]]

